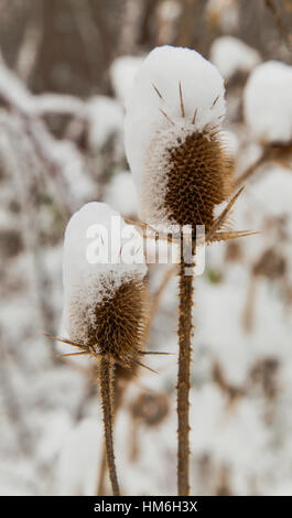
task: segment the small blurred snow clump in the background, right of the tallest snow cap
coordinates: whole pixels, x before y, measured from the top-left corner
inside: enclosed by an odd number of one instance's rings
[[[255,48],[234,36],[221,36],[210,47],[210,61],[228,79],[236,72],[250,72],[261,58]]]

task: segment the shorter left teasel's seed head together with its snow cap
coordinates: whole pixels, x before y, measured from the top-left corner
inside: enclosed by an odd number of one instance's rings
[[[110,355],[122,366],[132,367],[147,324],[143,280],[147,267],[141,262],[113,263],[110,256],[107,263],[90,263],[87,255],[88,228],[98,224],[110,233],[112,218],[119,220],[121,231],[127,227],[108,205],[89,203],[67,225],[63,256],[64,324],[69,338],[84,350]]]

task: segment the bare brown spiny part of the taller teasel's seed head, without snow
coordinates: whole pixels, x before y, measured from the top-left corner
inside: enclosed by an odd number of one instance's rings
[[[221,139],[213,132],[195,131],[169,150],[169,160],[164,203],[171,219],[193,228],[205,225],[208,231],[215,223],[215,206],[232,188],[234,162]]]

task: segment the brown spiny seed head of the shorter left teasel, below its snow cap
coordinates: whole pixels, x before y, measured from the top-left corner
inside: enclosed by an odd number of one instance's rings
[[[145,283],[131,279],[115,289],[107,279],[102,284],[101,302],[80,305],[79,296],[73,300],[71,334],[75,342],[82,337],[84,352],[110,356],[121,367],[132,369],[139,364],[148,322]]]

